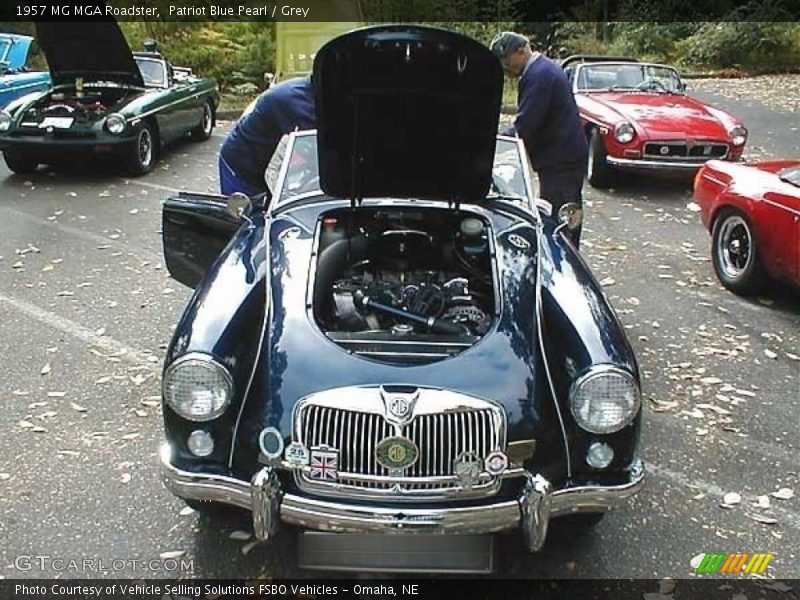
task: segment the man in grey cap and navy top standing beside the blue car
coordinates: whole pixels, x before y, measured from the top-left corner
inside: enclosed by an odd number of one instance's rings
[[[504,133],[525,142],[539,176],[539,195],[553,205],[554,215],[567,202],[583,207],[589,148],[564,70],[531,50],[528,38],[519,33],[499,33],[489,47],[505,72],[519,78],[517,117]],[[572,239],[577,246],[580,228]]]

